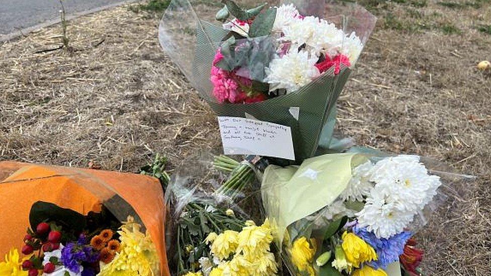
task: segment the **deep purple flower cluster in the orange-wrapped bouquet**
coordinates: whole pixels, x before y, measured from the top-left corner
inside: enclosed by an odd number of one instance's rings
[[[69,242],[61,249],[61,262],[71,272],[79,273],[82,263],[93,263],[99,258],[97,251],[91,246]],[[89,275],[89,274],[88,274]]]

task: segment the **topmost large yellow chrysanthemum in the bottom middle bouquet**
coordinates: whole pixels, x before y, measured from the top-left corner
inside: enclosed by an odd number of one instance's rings
[[[250,225],[242,228],[238,234],[237,253],[242,253],[249,260],[259,258],[270,249],[273,241],[268,219],[263,225]]]

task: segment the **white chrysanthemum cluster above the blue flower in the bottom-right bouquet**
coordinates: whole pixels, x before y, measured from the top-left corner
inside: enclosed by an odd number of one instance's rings
[[[399,155],[355,168],[342,198],[360,201],[366,197],[363,210],[356,214],[359,226],[378,238],[389,238],[413,221],[440,185],[440,177],[429,175],[419,156]]]

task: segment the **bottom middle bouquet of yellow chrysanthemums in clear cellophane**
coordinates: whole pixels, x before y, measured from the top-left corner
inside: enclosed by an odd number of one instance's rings
[[[171,270],[177,275],[274,275],[271,224],[253,206],[255,197],[235,201],[217,193],[223,175],[213,170],[211,155],[185,160],[166,193],[172,220],[168,229]],[[247,209],[249,206],[249,209]]]

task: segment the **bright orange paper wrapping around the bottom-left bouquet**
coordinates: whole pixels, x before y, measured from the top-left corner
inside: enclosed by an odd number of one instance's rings
[[[101,204],[115,195],[140,217],[159,254],[161,274],[170,275],[162,188],[157,179],[132,173],[0,162],[0,255],[11,247],[22,247],[35,202],[50,202],[87,215],[101,211]]]

